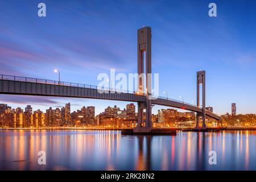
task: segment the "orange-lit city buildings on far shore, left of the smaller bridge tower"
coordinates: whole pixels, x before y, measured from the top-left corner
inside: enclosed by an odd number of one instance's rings
[[[0,104],[0,123],[3,127],[52,127],[52,126],[126,126],[135,127],[138,113],[133,103],[127,104],[120,109],[117,105],[106,107],[100,114],[95,113],[95,106],[83,106],[80,110],[71,110],[71,103],[61,108],[49,107],[46,111],[33,109],[31,105],[26,107],[12,108],[7,104]],[[158,117],[159,115],[159,117]],[[181,121],[181,119],[195,119],[195,112],[181,113],[177,109],[161,109],[158,114],[152,114],[152,121],[155,123],[168,123]],[[178,118],[175,118],[178,117]],[[159,118],[159,119],[158,119]],[[181,118],[181,119],[179,119]],[[146,113],[143,113],[143,121],[146,120]],[[119,124],[117,124],[119,123]]]

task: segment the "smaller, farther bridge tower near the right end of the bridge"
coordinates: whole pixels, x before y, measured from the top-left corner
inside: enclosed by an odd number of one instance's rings
[[[199,127],[199,117],[202,117],[203,125],[202,127],[205,128],[205,71],[196,72],[196,105],[200,107],[200,84],[202,84],[202,114],[196,114],[196,128]]]

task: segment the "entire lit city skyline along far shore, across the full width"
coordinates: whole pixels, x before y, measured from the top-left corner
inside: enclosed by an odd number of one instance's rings
[[[221,115],[223,122],[229,126],[255,126],[255,114],[247,113]],[[125,108],[117,105],[108,106],[101,113],[96,114],[95,106],[82,106],[72,110],[69,102],[61,107],[49,107],[45,111],[36,109],[31,105],[13,108],[8,104],[0,104],[0,126],[10,128],[48,128],[48,127],[135,127],[137,126],[138,113],[136,105],[127,104]],[[206,107],[213,111],[213,107]],[[193,111],[179,112],[177,109],[159,109],[158,113],[151,115],[153,127],[177,127],[193,126],[196,123],[196,114]],[[143,123],[146,121],[146,113],[143,113]],[[215,119],[207,117],[207,126],[216,127],[222,125]],[[144,125],[144,124],[143,124]]]

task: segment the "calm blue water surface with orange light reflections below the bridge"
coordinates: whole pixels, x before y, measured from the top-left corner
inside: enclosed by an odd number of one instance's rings
[[[46,151],[46,165],[38,152]],[[217,164],[209,165],[209,151]],[[2,170],[256,170],[256,131],[129,136],[120,131],[0,131]]]

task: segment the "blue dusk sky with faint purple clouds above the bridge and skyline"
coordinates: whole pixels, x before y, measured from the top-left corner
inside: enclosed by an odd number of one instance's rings
[[[38,3],[47,16],[38,17]],[[217,17],[208,5],[217,5]],[[0,73],[98,85],[99,73],[137,72],[137,29],[152,28],[152,72],[159,92],[192,103],[196,71],[207,72],[207,105],[214,112],[256,113],[256,2],[251,1],[0,1]],[[127,102],[0,96],[10,106],[72,110]],[[155,106],[153,112],[162,107]]]

